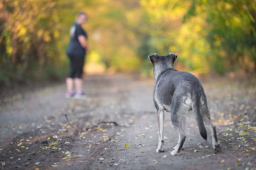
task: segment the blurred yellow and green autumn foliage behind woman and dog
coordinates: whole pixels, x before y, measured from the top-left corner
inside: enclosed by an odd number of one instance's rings
[[[148,55],[196,74],[255,74],[255,0],[0,0],[0,87],[64,80],[69,29],[85,11],[87,74],[152,75]]]

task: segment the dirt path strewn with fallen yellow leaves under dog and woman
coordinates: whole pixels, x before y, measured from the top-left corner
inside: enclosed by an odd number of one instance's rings
[[[227,77],[202,81],[222,152],[213,151],[208,127],[208,141],[201,138],[189,113],[184,150],[177,156],[170,155],[178,133],[169,113],[165,152],[156,153],[153,79],[89,75],[86,100],[65,99],[64,84],[5,97],[0,106],[0,168],[256,169],[256,83],[241,82]]]

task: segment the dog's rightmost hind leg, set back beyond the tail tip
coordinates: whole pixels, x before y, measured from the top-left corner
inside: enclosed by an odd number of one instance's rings
[[[215,152],[221,152],[221,145],[220,145],[220,142],[219,142],[219,140],[217,138],[217,133],[216,133],[215,125],[211,121],[210,112],[209,112],[207,106],[204,105],[203,107],[204,107],[202,109],[203,120],[209,126],[209,128],[211,130],[211,133],[212,133],[212,146],[213,146]]]

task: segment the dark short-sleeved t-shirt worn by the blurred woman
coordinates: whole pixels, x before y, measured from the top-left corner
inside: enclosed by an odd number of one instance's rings
[[[77,37],[79,35],[84,35],[85,38],[87,39],[87,34],[83,30],[82,26],[77,24],[76,22],[71,26],[69,30],[70,34],[70,40],[68,44],[68,48],[66,53],[68,55],[85,55],[85,49],[81,46],[79,43]]]

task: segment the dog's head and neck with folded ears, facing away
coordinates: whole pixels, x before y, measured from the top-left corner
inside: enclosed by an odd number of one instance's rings
[[[153,64],[154,77],[157,78],[157,76],[164,70],[173,68],[173,64],[177,57],[178,55],[174,53],[169,53],[168,55],[163,56],[159,56],[157,53],[149,55],[148,59]]]

